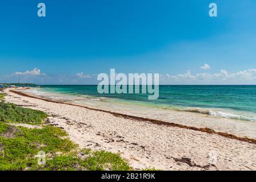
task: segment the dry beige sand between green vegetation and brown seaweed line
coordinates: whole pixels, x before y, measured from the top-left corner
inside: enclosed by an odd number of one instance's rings
[[[256,170],[250,141],[5,92],[8,102],[45,111],[47,123],[62,127],[80,147],[119,152],[134,169]]]

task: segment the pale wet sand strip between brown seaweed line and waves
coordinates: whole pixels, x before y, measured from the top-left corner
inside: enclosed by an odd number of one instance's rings
[[[202,113],[207,111],[203,108],[189,108],[187,110],[167,109],[165,107],[151,107],[150,105],[140,105],[133,102],[123,102],[122,100],[115,100],[107,97],[90,97],[90,96],[74,96],[72,94],[63,94],[55,92],[47,92],[41,89],[25,89],[18,92],[24,94],[23,96],[30,96],[40,98],[47,101],[57,101],[65,104],[84,106],[85,108],[95,109],[99,111],[106,111],[119,116],[127,115],[133,116],[132,119],[140,119],[157,123],[167,123],[171,126],[190,126],[197,129],[208,128],[218,133],[233,134],[235,136],[244,138],[256,139],[256,122],[244,121],[241,119],[232,119],[214,115],[218,113],[218,109],[210,109],[210,113]],[[201,110],[201,112],[198,112]],[[220,110],[219,110],[220,111]],[[221,111],[220,111],[221,112]],[[225,113],[225,112],[224,112]],[[227,114],[227,113],[226,113]],[[230,111],[229,114],[234,114]],[[146,119],[145,119],[146,118]],[[152,121],[153,120],[153,121]],[[161,121],[161,122],[159,122]],[[175,125],[172,125],[175,123]],[[208,130],[209,131],[209,130]]]

